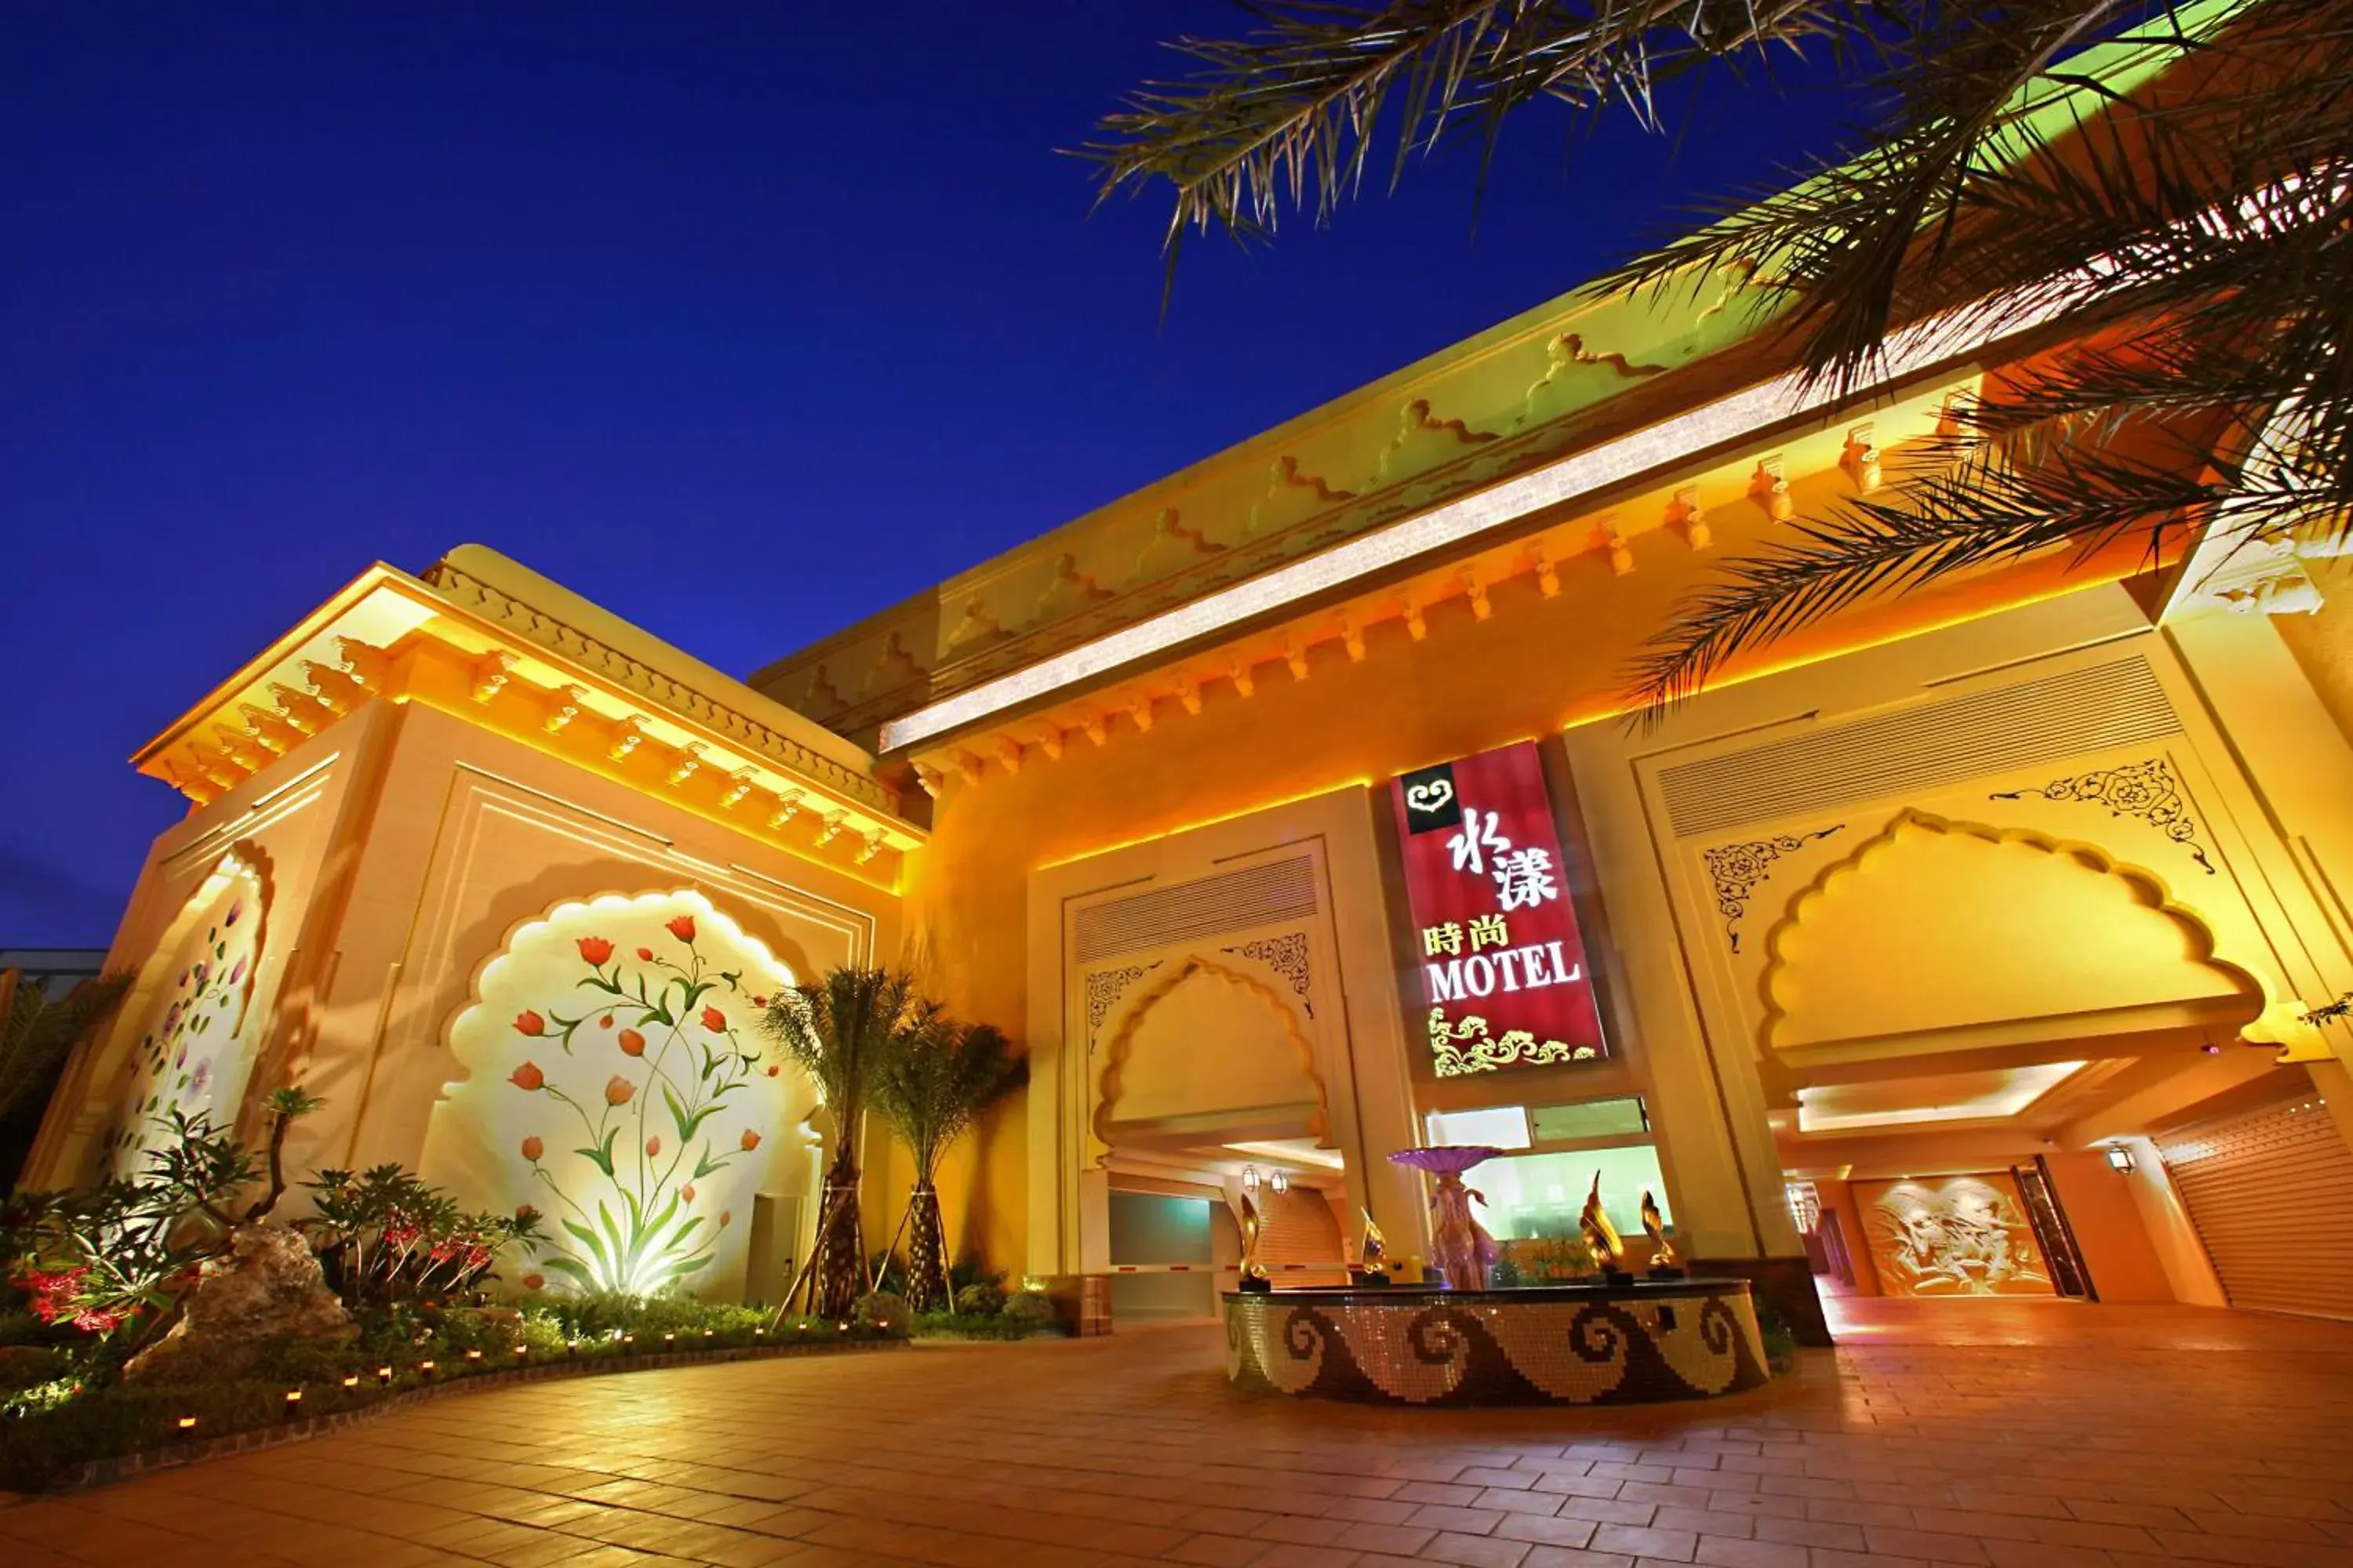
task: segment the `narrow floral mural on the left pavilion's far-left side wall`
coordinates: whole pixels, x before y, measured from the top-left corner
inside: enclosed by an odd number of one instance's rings
[[[169,1143],[172,1114],[228,1131],[245,1100],[264,1009],[266,896],[261,875],[238,856],[198,884],[141,973],[136,1044],[127,1081],[99,1143],[108,1175],[146,1171],[148,1150]]]

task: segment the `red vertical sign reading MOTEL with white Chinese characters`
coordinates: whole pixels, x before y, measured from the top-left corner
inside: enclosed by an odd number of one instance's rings
[[[1391,785],[1438,1077],[1602,1056],[1534,743]]]

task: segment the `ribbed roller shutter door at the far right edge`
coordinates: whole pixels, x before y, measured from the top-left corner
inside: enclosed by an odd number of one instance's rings
[[[2306,1095],[2158,1140],[2233,1307],[2353,1319],[2353,1150]]]

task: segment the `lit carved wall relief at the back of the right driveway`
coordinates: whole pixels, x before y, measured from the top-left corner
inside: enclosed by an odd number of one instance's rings
[[[2007,1173],[1857,1182],[1854,1199],[1889,1295],[2052,1295],[2035,1229]]]

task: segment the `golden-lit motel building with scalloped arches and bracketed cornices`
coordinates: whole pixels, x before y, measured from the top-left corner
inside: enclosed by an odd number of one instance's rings
[[[136,755],[188,816],[26,1180],[299,1081],[296,1166],[713,1239],[532,1288],[774,1302],[838,1128],[767,1063],[678,1192],[607,1175],[598,1128],[668,1126],[614,1100],[638,987],[755,1041],[776,987],[904,961],[1031,1065],[951,1244],[1089,1328],[1214,1314],[1245,1192],[1278,1288],[1367,1218],[1426,1258],[1388,1157],[1449,1143],[1501,1150],[1468,1185],[1520,1279],[1595,1182],[1635,1239],[1652,1194],[1800,1340],[1854,1295],[2348,1316],[2344,562],[2002,564],[1626,715],[1722,559],[2066,336],[1911,331],[1831,407],[1727,292],[1567,294],[741,679],[478,545],[367,567]],[[880,1251],[880,1121],[864,1164]]]

